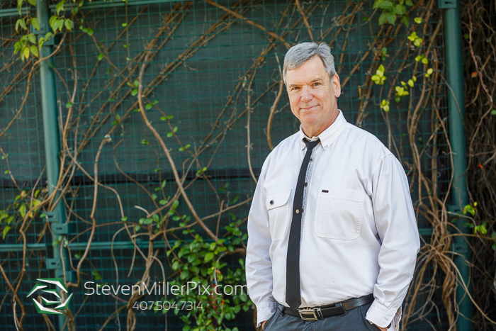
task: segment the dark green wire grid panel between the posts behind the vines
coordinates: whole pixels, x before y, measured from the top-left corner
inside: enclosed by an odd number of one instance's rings
[[[254,1],[250,3],[246,1],[219,1],[218,4],[231,11],[237,11],[247,20],[266,28],[266,31],[283,36],[288,43],[310,40],[308,28],[305,26],[297,6],[292,1]],[[339,98],[339,108],[343,110],[346,119],[351,123],[358,123],[365,130],[377,135],[385,145],[393,150],[395,155],[405,161],[404,164],[407,164],[412,161],[411,151],[407,138],[403,140],[401,137],[407,127],[407,101],[401,101],[396,108],[394,101],[391,100],[392,107],[388,114],[392,130],[391,135],[395,138],[395,142],[398,144],[401,142],[401,147],[395,148],[388,139],[385,113],[379,108],[384,96],[381,95],[377,86],[368,96],[364,87],[366,77],[371,74],[370,68],[375,68],[382,63],[379,58],[373,56],[378,51],[377,47],[371,45],[373,36],[381,30],[376,26],[376,23],[367,21],[368,16],[373,12],[372,4],[373,1],[361,3],[315,1],[304,3],[303,11],[305,11],[308,23],[312,27],[313,38],[317,41],[325,40],[332,46],[342,82],[346,77],[349,77],[349,81],[342,89],[342,96]],[[55,58],[55,69],[63,79],[62,81],[58,77],[60,110],[65,120],[67,118],[65,104],[69,101],[67,91],[72,92],[72,88],[77,82],[74,125],[70,131],[68,143],[72,146],[72,152],[80,151],[77,161],[81,167],[88,174],[94,176],[96,153],[102,140],[106,139],[106,135],[111,136],[112,141],[103,145],[101,157],[98,160],[98,180],[118,192],[124,214],[128,217],[128,223],[137,224],[137,220],[144,215],[143,211],[135,208],[135,206],[145,208],[147,211],[156,208],[153,199],[145,193],[144,189],[150,193],[155,193],[154,188],[159,186],[162,180],[167,179],[163,193],[157,191],[162,193],[162,197],[157,198],[157,201],[173,196],[176,191],[167,158],[164,157],[164,152],[160,149],[150,130],[146,129],[140,113],[134,111],[137,108],[135,105],[136,97],[131,95],[133,88],[125,84],[124,79],[127,77],[129,82],[137,79],[137,66],[142,64],[143,60],[142,52],[157,33],[159,36],[153,48],[157,52],[154,53],[154,58],[145,70],[143,77],[143,84],[150,86],[151,89],[150,94],[147,95],[147,102],[157,100],[159,109],[167,116],[174,116],[169,120],[169,123],[172,128],[178,127],[177,137],[181,142],[184,142],[184,145],[190,144],[191,150],[197,150],[201,147],[205,137],[212,133],[211,138],[208,139],[209,147],[198,156],[198,163],[201,164],[200,167],[208,167],[207,174],[210,176],[211,185],[217,191],[219,188],[226,187],[226,183],[230,184],[225,191],[219,192],[222,200],[228,202],[232,201],[235,196],[239,196],[239,201],[242,201],[251,196],[254,182],[249,174],[247,159],[247,100],[249,96],[252,107],[249,128],[252,143],[251,162],[255,175],[258,175],[264,158],[270,152],[266,141],[266,123],[270,108],[276,99],[278,80],[280,79],[276,56],[282,62],[286,52],[285,45],[280,40],[274,42],[274,38],[269,33],[257,28],[254,24],[227,14],[226,11],[203,1],[181,3],[135,1],[134,4],[133,1],[130,1],[128,6],[94,4],[81,13],[85,15],[84,26],[91,26],[94,29],[94,35],[89,36],[86,33],[81,33],[81,30],[78,29],[79,23],[77,23],[74,33],[67,35],[62,53]],[[373,16],[373,20],[376,18],[377,16]],[[2,19],[2,35],[11,35],[16,18]],[[437,18],[432,17],[431,19],[432,21],[429,23],[434,26]],[[124,23],[127,23],[127,26],[124,27]],[[165,29],[161,31],[161,28],[164,27]],[[393,43],[388,46],[390,57],[393,57],[395,52],[403,55],[405,52],[411,51],[405,43],[400,43],[406,33],[405,28],[401,28],[398,38],[393,38]],[[428,30],[428,33],[432,33],[432,28]],[[419,35],[422,37],[421,33]],[[105,52],[103,52],[102,47],[106,49]],[[11,54],[12,49],[11,44],[4,43],[3,57],[1,58],[3,63],[12,61],[7,56]],[[364,56],[367,52],[368,55]],[[100,54],[105,56],[99,58],[98,55]],[[264,57],[263,61],[254,66],[255,61],[260,56]],[[438,61],[442,61],[442,49],[439,49]],[[358,63],[360,64],[356,67]],[[395,57],[391,63],[390,70],[398,70],[402,58]],[[4,82],[8,82],[6,75],[9,74],[11,77],[13,73],[18,72],[22,65],[16,61],[11,70],[0,72],[0,75],[4,75],[1,76],[2,85],[5,84]],[[254,68],[256,69],[250,71]],[[252,77],[253,73],[254,76]],[[412,66],[403,69],[400,79],[408,79],[411,76]],[[9,129],[9,135],[0,138],[1,146],[9,153],[11,167],[12,164],[15,164],[18,169],[23,169],[22,172],[19,172],[22,173],[21,176],[16,174],[16,179],[23,180],[28,189],[33,187],[35,179],[42,174],[41,170],[45,164],[43,140],[41,140],[43,125],[40,120],[40,106],[34,106],[38,104],[37,100],[39,100],[35,97],[35,93],[39,91],[35,84],[35,77],[32,79],[33,88],[30,92],[32,94],[28,96],[30,98],[28,100],[32,100],[32,102],[26,102],[23,111],[23,116],[32,113],[31,117],[26,117],[24,125],[22,120],[16,120],[14,122],[16,126]],[[247,88],[250,83],[251,89],[248,91]],[[237,86],[239,87],[237,88]],[[434,87],[429,86],[432,89]],[[0,108],[2,110],[9,111],[9,107],[18,107],[18,103],[21,102],[19,94],[26,91],[26,86],[21,85],[16,91],[1,101]],[[446,91],[439,89],[436,90],[436,93],[439,95],[433,96],[434,99],[444,99]],[[225,106],[231,97],[232,102]],[[418,98],[419,89],[417,88],[413,92],[413,103]],[[364,107],[365,103],[367,106]],[[439,110],[443,111],[443,109],[443,105],[440,105]],[[120,120],[116,115],[119,116]],[[187,167],[189,163],[186,160],[189,157],[191,162],[191,155],[186,155],[186,152],[179,152],[179,143],[174,138],[167,138],[167,133],[171,131],[171,128],[167,121],[161,120],[164,114],[159,112],[157,108],[151,108],[147,111],[147,116],[167,142],[167,147],[171,149],[176,165],[180,171],[183,170],[181,164],[186,164]],[[13,116],[0,118],[2,121],[0,127],[5,128],[6,123],[12,118]],[[218,123],[214,126],[216,120]],[[432,146],[435,142],[434,145],[442,149],[444,147],[442,137],[434,140],[434,142],[432,139],[429,140],[433,131],[434,120],[432,108],[425,108],[417,139],[421,138],[427,146]],[[117,123],[113,124],[114,121]],[[295,130],[298,130],[298,122],[291,114],[287,95],[283,93],[271,126],[271,137],[274,145],[294,133]],[[214,139],[213,137],[217,138]],[[28,159],[28,157],[30,158]],[[67,160],[67,165],[69,162],[70,159]],[[430,162],[429,157],[424,157],[422,162],[424,162],[424,166],[427,166]],[[438,156],[437,164],[427,167],[429,172],[439,173],[439,193],[444,192],[442,184],[447,181],[449,176],[447,164],[446,158]],[[11,181],[3,171],[5,163],[1,163],[0,167],[2,167],[0,175],[4,183],[4,186],[1,187],[2,201],[6,206],[13,201],[18,190],[9,186]],[[158,172],[155,171],[157,168],[160,169]],[[407,167],[405,166],[405,168]],[[188,187],[188,194],[198,213],[204,217],[218,211],[218,200],[212,186],[207,181],[191,181],[197,169],[198,164],[193,164],[191,175],[187,177],[186,184],[191,183],[191,186]],[[411,176],[410,173],[410,179]],[[142,184],[144,189],[140,189],[129,177]],[[44,184],[45,176],[42,174],[41,178]],[[94,185],[88,176],[80,169],[76,169],[70,181],[70,187],[72,191],[65,197],[68,206],[71,206],[74,212],[68,214],[71,225],[69,227],[69,248],[72,249],[72,262],[77,264],[78,259],[74,257],[74,254],[81,247],[84,247],[84,243],[89,238],[89,229],[91,229],[91,224],[82,222],[81,218],[90,220]],[[417,195],[417,192],[414,191],[412,194],[414,201]],[[2,206],[2,208],[4,207]],[[180,213],[188,213],[182,201],[179,211]],[[235,210],[235,214],[239,218],[242,218],[246,213],[246,205]],[[114,279],[115,266],[110,253],[111,241],[129,242],[129,237],[124,231],[113,237],[115,232],[122,229],[120,208],[113,191],[98,189],[95,218],[99,227],[94,237],[94,245],[103,249],[90,251],[90,256],[82,269],[84,272],[83,281],[94,279],[91,274],[93,270],[97,270],[101,274],[102,281]],[[221,224],[227,225],[230,216],[222,215],[220,221]],[[36,222],[43,226],[41,220],[34,221],[33,225]],[[215,227],[216,222],[215,218],[206,221],[207,225],[213,227]],[[422,222],[424,221],[419,220],[420,226],[425,228],[427,224]],[[6,242],[15,244],[18,236],[15,230],[12,231],[13,235],[8,236]],[[33,226],[33,235],[29,237],[28,242],[37,242],[34,234],[39,231],[39,226],[38,228]],[[50,241],[51,239],[43,237],[41,243],[48,242],[48,246],[50,246]],[[50,255],[50,253],[45,254],[43,250],[38,252],[33,255],[33,258],[37,257],[35,262],[30,262],[30,268],[33,268],[33,271],[30,272],[38,270],[35,269],[35,266],[38,268],[38,264],[43,265],[44,257]],[[133,272],[127,276],[132,263],[132,254],[133,250],[129,247],[114,251],[119,279],[125,279],[131,283],[139,280],[140,272],[145,269],[142,261],[136,259]],[[159,251],[158,258],[163,262],[166,261],[164,249]],[[8,267],[11,269],[9,277],[15,277],[22,256],[20,253],[15,253],[6,256],[6,259],[11,263]],[[230,265],[235,266],[235,261],[236,259],[232,258]],[[169,267],[167,265],[164,267],[167,275],[170,275]],[[162,271],[157,264],[150,272],[154,274],[156,279],[162,278]],[[53,271],[47,271],[48,274],[53,276]],[[33,281],[35,281],[34,277],[23,280],[24,292],[22,294],[29,291],[34,284]],[[74,296],[76,307],[79,307],[83,302],[84,296],[81,293],[76,293]],[[115,310],[115,299],[94,298],[94,301],[86,301],[81,307],[76,319],[78,330],[95,330],[101,327]],[[11,324],[9,322],[11,309],[10,303],[7,302],[1,309],[1,315],[6,325]],[[27,309],[28,318],[25,321],[25,326],[33,327],[30,330],[35,330],[36,325],[39,327],[43,321],[40,322],[33,307],[27,307]],[[126,314],[121,312],[119,316],[122,326],[122,323],[125,323]],[[163,316],[154,316],[149,312],[141,313],[137,315],[137,318],[141,327],[146,325],[150,330],[154,330],[154,328],[162,330],[164,325]],[[434,325],[438,325],[436,319],[436,316],[429,315],[429,320],[432,320]],[[52,319],[52,322],[55,323],[55,319]],[[107,328],[117,330],[118,324],[116,323],[116,320],[112,320]],[[170,330],[180,330],[181,328],[181,322],[172,314],[169,314],[167,325]],[[252,330],[249,314],[245,315],[244,318],[240,317],[232,325],[236,325],[239,330]],[[422,327],[417,324],[413,324],[411,328],[412,330],[422,330]]]

